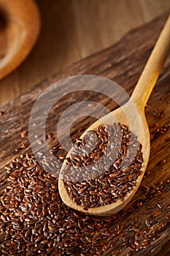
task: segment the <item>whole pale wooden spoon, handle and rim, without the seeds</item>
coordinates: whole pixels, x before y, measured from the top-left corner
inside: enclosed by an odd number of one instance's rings
[[[83,206],[77,206],[77,204],[74,203],[72,198],[69,197],[66,187],[64,186],[62,179],[62,172],[66,166],[66,161],[64,161],[61,168],[61,174],[58,179],[58,189],[63,203],[65,203],[67,206],[87,214],[107,216],[110,214],[115,214],[117,211],[120,211],[122,208],[124,208],[136,193],[144,176],[144,171],[146,170],[150,155],[150,132],[144,115],[144,106],[146,105],[152,89],[155,86],[156,80],[158,79],[158,75],[161,72],[163,63],[166,60],[166,56],[168,55],[169,50],[170,16],[166,22],[166,25],[161,31],[161,35],[156,42],[155,48],[152,50],[150,59],[147,61],[139,81],[136,84],[131,99],[128,100],[128,102],[125,103],[125,105],[123,105],[121,108],[117,108],[116,110],[112,111],[106,116],[103,116],[100,120],[90,125],[90,127],[88,127],[88,129],[81,136],[81,138],[83,138],[88,130],[95,130],[99,125],[102,125],[103,123],[112,125],[114,118],[116,118],[117,122],[120,122],[120,124],[126,124],[130,131],[138,136],[140,143],[142,143],[142,154],[144,162],[141,169],[142,175],[136,179],[136,186],[134,186],[131,191],[125,195],[123,200],[117,200],[116,203],[111,203],[107,206],[89,208],[88,211],[86,211],[83,209]],[[69,157],[71,151],[69,151],[66,157]]]

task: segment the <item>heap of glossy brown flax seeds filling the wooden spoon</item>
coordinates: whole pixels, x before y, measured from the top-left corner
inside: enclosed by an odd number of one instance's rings
[[[69,196],[85,210],[123,200],[141,175],[141,150],[123,124],[88,131],[66,159],[63,180]]]

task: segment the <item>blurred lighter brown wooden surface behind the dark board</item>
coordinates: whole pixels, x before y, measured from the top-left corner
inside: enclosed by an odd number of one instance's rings
[[[0,81],[0,105],[170,10],[169,0],[36,0],[36,3],[42,16],[39,39],[26,61]]]

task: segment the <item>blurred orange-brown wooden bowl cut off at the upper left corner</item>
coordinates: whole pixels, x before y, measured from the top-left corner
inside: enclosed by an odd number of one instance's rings
[[[26,59],[40,29],[33,0],[0,0],[0,80]]]

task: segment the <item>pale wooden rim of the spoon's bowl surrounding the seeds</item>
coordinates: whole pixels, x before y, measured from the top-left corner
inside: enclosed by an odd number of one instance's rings
[[[120,124],[125,124],[129,127],[131,132],[133,132],[135,135],[138,136],[140,143],[142,144],[142,154],[144,163],[142,165],[141,171],[142,175],[140,175],[136,179],[136,186],[134,186],[130,192],[128,192],[125,197],[123,197],[123,200],[117,200],[116,203],[111,203],[106,206],[98,206],[95,208],[89,208],[87,211],[84,209],[83,206],[78,206],[71,197],[69,197],[69,194],[66,190],[66,187],[64,185],[63,179],[62,179],[62,171],[66,165],[66,162],[63,162],[63,166],[61,169],[61,176],[58,179],[58,188],[61,195],[61,198],[63,200],[63,203],[65,203],[67,206],[74,208],[77,211],[86,212],[88,214],[98,215],[98,216],[107,216],[110,214],[115,214],[117,211],[120,211],[122,208],[124,208],[131,200],[132,197],[134,197],[134,194],[136,193],[136,190],[139,188],[139,185],[142,181],[142,178],[144,176],[144,171],[147,167],[147,162],[149,160],[149,154],[150,154],[150,132],[147,127],[147,121],[144,116],[144,113],[139,110],[138,116],[136,118],[136,115],[128,115],[128,113],[135,113],[134,111],[135,105],[131,101],[131,99],[123,105],[121,108],[117,108],[116,110],[112,111],[111,113],[107,114],[106,116],[103,116],[100,120],[96,121],[88,129],[81,135],[80,138],[83,138],[89,130],[96,130],[96,128],[99,125],[109,124],[112,125],[113,119],[115,118],[117,122]],[[67,157],[69,157],[70,153],[67,154]]]

